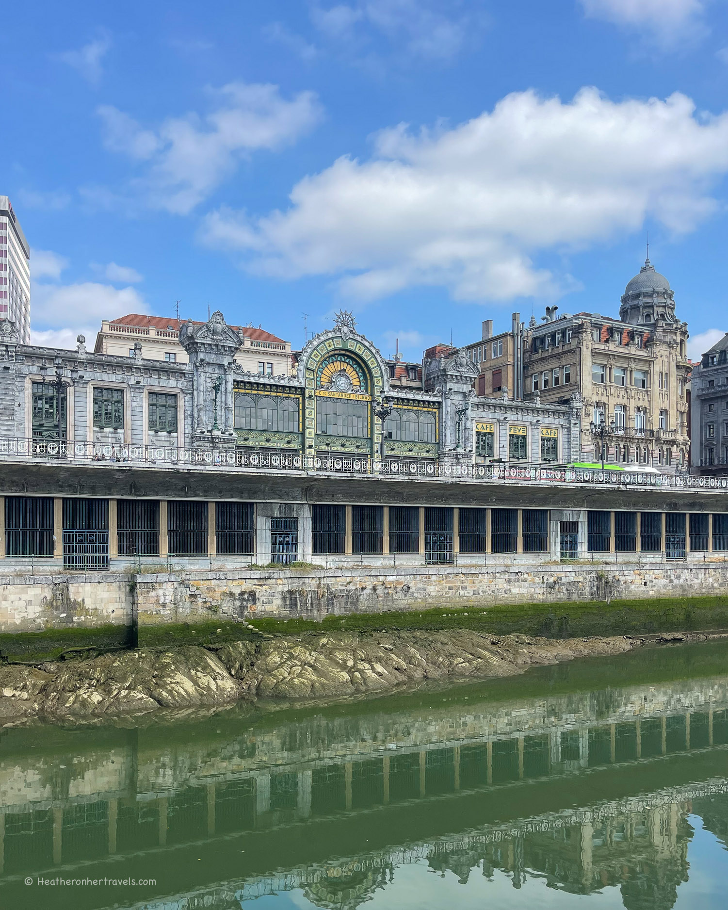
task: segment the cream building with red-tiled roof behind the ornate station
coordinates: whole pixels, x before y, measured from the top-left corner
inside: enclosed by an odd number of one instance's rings
[[[130,313],[119,319],[104,319],[96,336],[94,352],[115,354],[116,357],[134,357],[134,346],[138,342],[143,359],[188,363],[187,352],[179,343],[179,329],[183,325],[187,325],[186,319],[143,316],[139,313]],[[192,322],[192,325],[197,327],[203,323]],[[290,341],[252,326],[231,328],[243,339],[235,355],[243,369],[266,376],[290,376],[295,372]]]

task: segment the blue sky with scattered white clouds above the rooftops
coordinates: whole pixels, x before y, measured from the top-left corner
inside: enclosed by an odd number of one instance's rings
[[[728,330],[721,0],[5,5],[0,192],[35,338],[220,308],[384,351],[615,314],[651,258]],[[711,334],[712,333],[712,334]]]

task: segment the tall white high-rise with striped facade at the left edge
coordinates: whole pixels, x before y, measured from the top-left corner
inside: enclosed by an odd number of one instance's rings
[[[10,199],[0,196],[0,319],[12,319],[30,344],[30,248]]]

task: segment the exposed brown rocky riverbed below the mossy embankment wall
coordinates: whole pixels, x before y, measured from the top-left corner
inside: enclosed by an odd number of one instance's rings
[[[666,636],[675,639],[679,636]],[[250,635],[216,647],[106,653],[0,666],[0,725],[217,707],[239,700],[381,693],[446,679],[510,676],[531,666],[618,654],[638,638],[551,640],[480,632]]]

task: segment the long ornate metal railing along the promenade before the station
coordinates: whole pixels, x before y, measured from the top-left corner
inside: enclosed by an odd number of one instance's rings
[[[542,464],[472,464],[448,460],[373,458],[369,455],[301,455],[298,451],[223,450],[114,442],[74,442],[0,438],[0,461],[74,461],[79,464],[127,464],[233,471],[300,471],[373,475],[410,480],[476,480],[480,482],[561,484],[610,487],[728,490],[726,477],[641,473]]]

